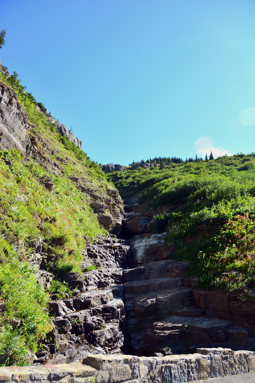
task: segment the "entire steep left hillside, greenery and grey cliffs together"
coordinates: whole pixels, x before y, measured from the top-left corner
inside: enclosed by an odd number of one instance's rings
[[[26,364],[52,330],[49,294],[72,295],[62,276],[81,272],[97,234],[119,233],[123,203],[81,141],[0,69],[0,363]]]

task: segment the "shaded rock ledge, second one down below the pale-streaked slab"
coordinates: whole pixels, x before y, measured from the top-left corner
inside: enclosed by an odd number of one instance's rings
[[[184,286],[183,277],[178,278],[156,278],[142,281],[127,282],[124,284],[124,293],[142,294],[151,291],[169,290],[175,287]]]

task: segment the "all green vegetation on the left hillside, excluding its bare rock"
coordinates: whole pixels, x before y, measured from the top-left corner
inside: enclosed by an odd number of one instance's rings
[[[0,364],[29,363],[38,344],[52,326],[46,307],[51,292],[70,292],[57,278],[79,271],[85,236],[105,233],[89,207],[89,197],[77,190],[69,175],[78,176],[85,187],[104,192],[109,183],[100,167],[67,137],[57,133],[38,103],[14,74],[0,80],[12,87],[28,115],[28,136],[38,150],[47,142],[54,155],[46,157],[63,169],[52,169],[26,159],[15,149],[0,152]],[[47,164],[47,161],[45,162]],[[44,187],[51,180],[52,191]],[[44,268],[53,273],[48,290],[37,283],[36,246],[43,242]]]

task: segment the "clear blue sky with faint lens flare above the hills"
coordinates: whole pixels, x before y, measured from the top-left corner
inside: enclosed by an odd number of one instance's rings
[[[98,163],[255,151],[254,0],[1,0],[1,29]]]

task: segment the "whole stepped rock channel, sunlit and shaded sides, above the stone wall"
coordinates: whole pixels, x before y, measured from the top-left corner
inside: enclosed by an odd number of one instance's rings
[[[129,239],[98,235],[84,251],[83,276],[62,277],[73,296],[51,297],[54,331],[34,362],[78,362],[89,354],[164,356],[198,347],[254,350],[252,306],[195,290],[196,281],[183,276],[189,263],[172,258],[165,233],[148,232],[152,212],[137,204],[125,210]]]

